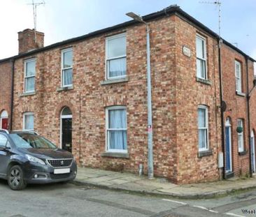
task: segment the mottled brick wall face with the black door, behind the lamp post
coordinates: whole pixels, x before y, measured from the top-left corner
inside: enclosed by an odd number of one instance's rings
[[[176,83],[173,17],[150,22],[152,62],[152,111],[155,175],[173,181],[176,160]],[[23,92],[24,59],[15,62],[14,128],[22,128],[22,114],[34,112],[34,128],[59,145],[60,112],[65,105],[73,112],[73,154],[83,166],[147,172],[147,95],[145,26],[127,32],[129,82],[101,85],[105,78],[105,37],[90,38],[73,47],[73,90],[57,91],[61,83],[61,50],[36,54],[36,95]],[[27,57],[26,57],[27,58]],[[129,158],[102,157],[105,151],[105,107],[127,106]]]

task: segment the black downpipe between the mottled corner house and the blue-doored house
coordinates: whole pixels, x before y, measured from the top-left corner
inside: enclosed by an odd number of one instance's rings
[[[223,93],[222,93],[222,65],[221,65],[221,43],[222,39],[218,38],[218,54],[219,54],[219,77],[220,77],[220,116],[221,116],[221,140],[222,140],[222,151],[223,151],[223,169],[222,175],[223,179],[225,179],[225,131],[224,131],[224,111],[222,110],[222,100],[223,100]]]

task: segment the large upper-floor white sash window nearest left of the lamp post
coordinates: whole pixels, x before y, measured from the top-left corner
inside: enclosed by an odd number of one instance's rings
[[[126,34],[106,38],[106,79],[126,77]]]

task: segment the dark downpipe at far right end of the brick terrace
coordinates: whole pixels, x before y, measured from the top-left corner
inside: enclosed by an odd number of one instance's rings
[[[248,118],[248,138],[249,138],[249,159],[250,159],[250,177],[253,177],[253,167],[252,167],[252,151],[251,151],[251,141],[250,141],[250,93],[253,91],[255,85],[253,84],[253,89],[249,92],[249,75],[248,75],[248,57],[246,57],[246,79],[247,79],[247,118]]]

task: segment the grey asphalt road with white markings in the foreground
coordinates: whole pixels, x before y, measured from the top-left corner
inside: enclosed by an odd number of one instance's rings
[[[22,191],[0,181],[0,217],[256,216],[256,190],[212,200],[176,200],[73,184],[30,185]]]

